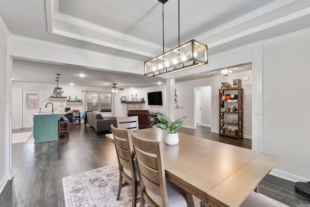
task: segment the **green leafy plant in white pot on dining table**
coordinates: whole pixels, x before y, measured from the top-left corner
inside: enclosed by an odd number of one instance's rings
[[[165,143],[168,145],[176,145],[179,143],[179,135],[176,132],[177,129],[183,127],[184,122],[182,119],[186,119],[187,116],[179,118],[175,121],[171,121],[170,118],[167,118],[163,115],[157,115],[158,120],[160,121],[158,124],[155,124],[155,127],[159,127],[161,129],[166,130]]]

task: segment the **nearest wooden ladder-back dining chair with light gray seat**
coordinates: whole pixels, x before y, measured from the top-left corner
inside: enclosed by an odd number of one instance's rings
[[[146,202],[150,207],[187,207],[186,192],[166,180],[160,142],[130,134],[140,177],[140,206]]]

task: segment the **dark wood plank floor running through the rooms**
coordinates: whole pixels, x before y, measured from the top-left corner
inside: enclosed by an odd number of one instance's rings
[[[32,129],[13,130],[14,133]],[[250,139],[233,139],[211,133],[210,128],[181,128],[178,132],[250,148]],[[114,145],[88,125],[70,125],[70,138],[59,141],[12,145],[14,178],[0,194],[0,207],[64,207],[62,177],[117,163]],[[268,175],[259,185],[261,193],[291,207],[310,207],[310,199],[294,191],[294,183]]]

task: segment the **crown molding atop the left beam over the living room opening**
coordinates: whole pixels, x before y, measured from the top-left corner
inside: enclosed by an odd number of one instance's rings
[[[136,64],[142,63],[141,61],[138,61],[138,60],[121,58],[118,56],[112,56],[112,55],[108,55],[104,53],[94,52],[91,50],[85,50],[85,49],[71,47],[71,46],[67,46],[63,44],[50,43],[50,42],[46,42],[42,40],[37,40],[37,39],[32,39],[32,38],[22,37],[22,36],[17,36],[17,35],[11,35],[8,41],[12,43],[26,44],[26,45],[32,45],[32,46],[42,47],[42,48],[47,48],[47,49],[60,50],[63,52],[74,53],[78,55],[92,56],[92,57],[100,58],[100,59],[109,59],[109,60],[113,59],[117,61],[126,61],[126,62],[132,62]]]

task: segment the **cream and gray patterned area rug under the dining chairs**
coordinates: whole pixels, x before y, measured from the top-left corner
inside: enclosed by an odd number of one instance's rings
[[[119,184],[118,164],[63,177],[62,184],[66,207],[131,207],[131,185],[123,187],[120,200],[116,200]],[[269,197],[266,198],[279,207],[288,207]],[[140,203],[137,207],[140,207]],[[148,206],[145,204],[145,207]]]

